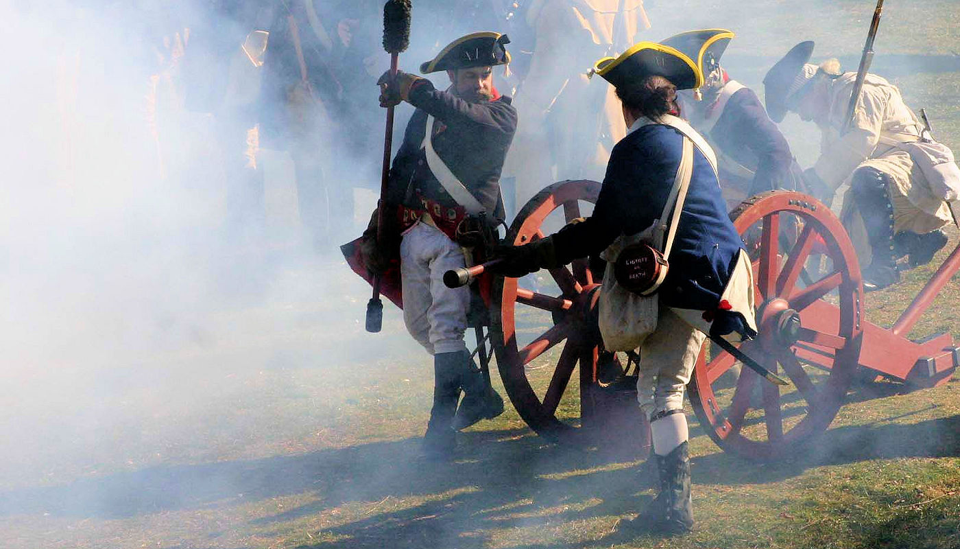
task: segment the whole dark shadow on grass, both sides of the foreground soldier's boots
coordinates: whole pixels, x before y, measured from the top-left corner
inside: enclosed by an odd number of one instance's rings
[[[550,538],[583,540],[550,545],[579,549],[621,541],[604,530],[650,499],[638,493],[651,487],[650,472],[622,457],[549,444],[525,429],[471,432],[461,441],[459,459],[446,463],[418,460],[419,439],[405,439],[266,460],[153,467],[0,493],[0,515],[123,519],[259,502],[270,511],[252,512],[258,518],[249,527],[288,538],[302,532],[299,519],[340,508],[339,521],[324,527],[324,542],[304,547],[470,549],[506,532],[515,549],[542,547],[537,543]],[[952,456],[960,453],[960,417],[843,427],[814,446],[804,456],[768,464],[723,452],[698,457],[693,478],[697,484],[759,484],[822,464]],[[310,503],[276,513],[266,501],[297,494],[310,496]]]

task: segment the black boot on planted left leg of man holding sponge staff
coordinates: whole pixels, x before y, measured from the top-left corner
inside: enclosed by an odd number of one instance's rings
[[[433,408],[423,435],[423,454],[431,459],[445,459],[456,448],[453,414],[460,399],[462,353],[440,353],[433,358]]]

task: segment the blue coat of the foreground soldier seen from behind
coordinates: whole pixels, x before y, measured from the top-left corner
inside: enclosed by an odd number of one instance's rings
[[[643,126],[613,147],[593,214],[554,238],[559,262],[603,251],[660,217],[683,156],[683,135],[662,124]],[[660,304],[714,310],[743,242],[733,228],[707,158],[694,147],[693,175],[660,286]]]

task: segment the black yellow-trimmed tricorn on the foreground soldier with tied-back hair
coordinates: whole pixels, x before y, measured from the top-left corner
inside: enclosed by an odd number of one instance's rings
[[[595,63],[589,75],[598,74],[613,87],[629,88],[647,76],[662,76],[677,89],[699,89],[704,75],[696,62],[683,52],[655,42],[639,42],[620,57],[605,57]]]

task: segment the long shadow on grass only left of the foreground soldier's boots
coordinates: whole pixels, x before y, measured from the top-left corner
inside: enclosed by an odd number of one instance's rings
[[[650,487],[647,471],[622,456],[564,448],[525,429],[460,437],[455,462],[421,461],[420,440],[405,439],[248,462],[160,466],[0,493],[0,515],[124,519],[307,493],[314,503],[261,512],[251,526],[283,531],[289,521],[344,504],[386,502],[324,533],[348,539],[350,547],[470,547],[471,533],[480,536],[485,528],[636,512],[648,499],[634,497]],[[476,545],[483,542],[481,536]]]

